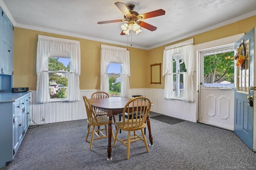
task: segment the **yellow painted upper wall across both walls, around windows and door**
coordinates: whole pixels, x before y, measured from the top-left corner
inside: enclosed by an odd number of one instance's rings
[[[194,38],[194,45],[196,45],[239,33],[247,33],[253,27],[256,27],[256,16],[148,51],[130,47],[130,88],[164,88],[164,77],[162,76],[162,84],[150,84],[150,65],[162,63],[165,46],[191,38]],[[80,41],[80,90],[100,89],[100,44],[112,44],[19,27],[14,27],[14,87],[29,87],[29,90],[36,90],[36,47],[38,34]],[[123,47],[120,45],[113,46]]]

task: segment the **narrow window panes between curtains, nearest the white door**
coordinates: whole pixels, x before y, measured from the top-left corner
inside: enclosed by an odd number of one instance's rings
[[[183,90],[184,90],[184,74],[186,73],[187,69],[184,63],[184,59],[182,55],[173,55],[172,56],[172,95],[174,98],[182,98],[183,97]]]

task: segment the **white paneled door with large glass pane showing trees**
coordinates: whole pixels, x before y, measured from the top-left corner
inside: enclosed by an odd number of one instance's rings
[[[234,44],[200,51],[198,121],[234,130]]]

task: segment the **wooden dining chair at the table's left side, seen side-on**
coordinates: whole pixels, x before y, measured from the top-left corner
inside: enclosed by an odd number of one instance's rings
[[[87,123],[89,125],[88,127],[88,131],[86,134],[86,138],[85,141],[87,141],[89,134],[91,134],[91,140],[90,140],[90,147],[89,149],[92,149],[92,142],[94,140],[97,139],[102,139],[102,138],[107,138],[108,137],[108,129],[107,129],[107,125],[108,125],[108,116],[107,115],[102,115],[102,116],[96,116],[96,114],[94,113],[94,109],[92,108],[90,102],[88,101],[88,99],[86,98],[86,96],[83,96],[84,99],[84,104],[85,104],[85,108],[86,108],[86,114],[87,114]],[[95,127],[100,127],[100,126],[104,126],[103,129],[98,129],[95,130]],[[92,127],[92,130],[91,130]],[[105,134],[104,134],[105,131]],[[94,138],[94,135],[96,135],[97,137]],[[112,131],[112,136],[113,136],[113,140],[114,140],[114,133]]]

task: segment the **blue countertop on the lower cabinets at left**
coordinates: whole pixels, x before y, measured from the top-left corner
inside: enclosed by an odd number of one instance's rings
[[[20,98],[22,98],[24,95],[31,93],[28,92],[0,92],[0,103],[4,102],[16,102]]]

